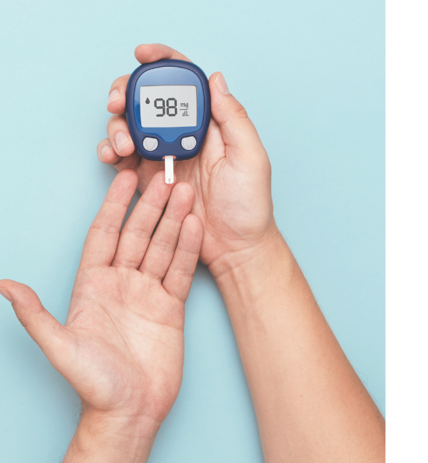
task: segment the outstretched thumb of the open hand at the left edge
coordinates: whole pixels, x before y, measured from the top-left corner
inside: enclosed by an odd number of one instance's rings
[[[58,355],[63,353],[67,340],[66,328],[46,311],[37,294],[28,286],[1,280],[0,294],[11,302],[16,318],[56,368]]]

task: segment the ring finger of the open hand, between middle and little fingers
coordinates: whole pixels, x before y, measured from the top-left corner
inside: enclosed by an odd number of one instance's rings
[[[186,182],[175,185],[165,214],[148,246],[140,270],[153,279],[162,280],[173,260],[181,226],[195,199],[195,189]]]

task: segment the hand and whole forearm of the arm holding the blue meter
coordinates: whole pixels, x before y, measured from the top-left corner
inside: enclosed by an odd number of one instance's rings
[[[140,63],[188,60],[164,45],[136,48]],[[108,138],[98,157],[138,173],[141,192],[162,163],[134,151],[126,84],[110,90]],[[233,323],[258,415],[265,462],[384,462],[385,422],[322,316],[273,216],[270,162],[253,123],[224,77],[210,77],[212,119],[198,157],[176,174],[195,187],[208,265]],[[119,150],[116,135],[127,144]],[[121,137],[121,136],[120,136]]]

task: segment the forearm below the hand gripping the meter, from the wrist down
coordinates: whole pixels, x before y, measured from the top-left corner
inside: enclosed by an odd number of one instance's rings
[[[238,340],[265,461],[384,461],[383,417],[282,236],[244,254],[211,270]]]

